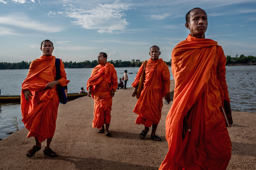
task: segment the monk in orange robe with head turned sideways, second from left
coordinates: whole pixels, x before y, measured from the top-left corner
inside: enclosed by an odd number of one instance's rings
[[[92,95],[95,102],[92,127],[99,128],[98,133],[111,136],[108,128],[111,120],[112,97],[117,88],[117,75],[114,65],[107,62],[107,57],[106,53],[99,54],[99,65],[92,69],[91,77],[87,81],[87,90],[88,96]]]

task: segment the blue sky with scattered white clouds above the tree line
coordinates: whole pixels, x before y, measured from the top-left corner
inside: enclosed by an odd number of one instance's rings
[[[195,7],[208,15],[205,38],[225,55],[256,55],[255,0],[0,0],[0,62],[39,58],[45,39],[63,61],[92,61],[100,52],[108,60],[148,60],[153,45],[170,61]]]

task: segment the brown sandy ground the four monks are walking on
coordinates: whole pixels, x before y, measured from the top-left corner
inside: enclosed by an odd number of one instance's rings
[[[171,91],[174,81],[171,81]],[[43,148],[28,158],[26,152],[34,145],[34,138],[26,138],[22,129],[0,141],[0,169],[94,169],[94,170],[157,170],[168,151],[165,139],[165,118],[171,105],[162,109],[157,128],[161,142],[139,138],[143,125],[135,124],[132,112],[136,98],[132,88],[117,90],[113,98],[112,137],[92,128],[93,99],[88,96],[59,106],[57,126],[51,148],[58,156],[44,156]],[[256,113],[232,112],[234,124],[229,128],[232,158],[227,169],[256,169]],[[150,129],[151,130],[151,129]],[[45,142],[42,143],[44,145]]]

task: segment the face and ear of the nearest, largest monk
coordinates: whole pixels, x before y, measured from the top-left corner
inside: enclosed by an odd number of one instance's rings
[[[186,27],[189,29],[190,35],[204,39],[204,33],[207,30],[207,25],[207,14],[204,10],[194,9],[190,11],[189,23],[186,23]]]

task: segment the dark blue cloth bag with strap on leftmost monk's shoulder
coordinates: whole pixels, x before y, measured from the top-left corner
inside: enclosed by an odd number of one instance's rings
[[[55,67],[56,67],[56,80],[59,80],[60,77],[60,59],[55,60]],[[60,99],[60,103],[66,104],[67,97],[68,97],[68,86],[61,86],[57,84],[57,92]]]

